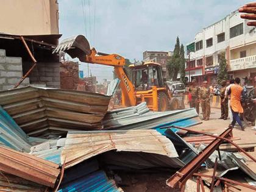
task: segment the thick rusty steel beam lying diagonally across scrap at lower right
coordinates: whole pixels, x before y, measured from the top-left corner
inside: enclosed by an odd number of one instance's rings
[[[216,148],[218,148],[219,144],[224,141],[223,138],[230,137],[230,133],[232,133],[231,128],[228,128],[222,132],[221,135],[219,135],[219,138],[215,138],[212,143],[208,144],[208,146],[195,158],[193,158],[190,163],[183,166],[183,168],[177,171],[176,174],[166,180],[166,184],[171,188],[174,188],[177,185],[179,185],[179,187],[185,185],[187,180],[193,176],[193,173],[200,168],[202,163],[204,163],[205,160],[207,160],[207,158],[216,150]]]

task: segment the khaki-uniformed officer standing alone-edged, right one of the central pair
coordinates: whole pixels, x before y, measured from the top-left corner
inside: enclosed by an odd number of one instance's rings
[[[200,101],[203,113],[203,120],[208,121],[210,118],[211,108],[210,108],[210,88],[207,87],[207,80],[203,82],[203,87],[200,90]]]

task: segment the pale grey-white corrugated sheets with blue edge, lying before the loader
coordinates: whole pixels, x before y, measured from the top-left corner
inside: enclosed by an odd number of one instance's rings
[[[107,112],[103,119],[104,129],[156,129],[164,126],[193,126],[201,123],[196,110],[187,108],[168,112],[151,112],[146,103],[136,107]]]

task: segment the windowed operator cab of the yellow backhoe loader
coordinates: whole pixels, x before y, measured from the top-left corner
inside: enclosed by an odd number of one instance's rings
[[[151,90],[152,86],[165,87],[162,66],[158,63],[146,62],[130,65],[132,69],[132,83],[135,90]]]

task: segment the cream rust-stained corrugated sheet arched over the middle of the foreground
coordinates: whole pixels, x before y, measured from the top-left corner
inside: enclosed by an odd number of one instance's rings
[[[178,157],[172,142],[156,130],[68,132],[62,151],[65,168],[107,151],[146,152]]]

